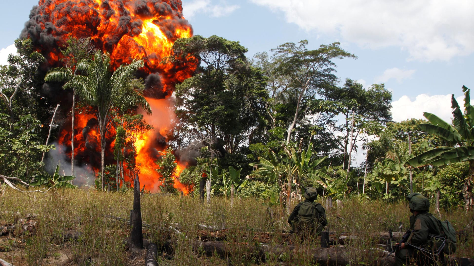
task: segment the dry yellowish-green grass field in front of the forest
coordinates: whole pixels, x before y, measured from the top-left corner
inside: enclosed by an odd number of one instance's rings
[[[326,199],[319,199],[326,205]],[[126,251],[124,239],[130,228],[123,221],[109,216],[129,218],[133,193],[101,193],[95,190],[59,189],[43,193],[19,193],[6,188],[0,194],[0,226],[17,224],[15,233],[0,238],[0,258],[15,266],[22,265],[144,265],[143,252]],[[252,246],[258,232],[275,232],[269,244],[280,244],[284,239],[278,234],[289,231],[286,210],[279,205],[268,206],[261,200],[229,199],[214,197],[210,204],[199,198],[145,194],[141,198],[145,238],[158,244],[174,243],[174,252],[158,257],[159,265],[311,265],[309,248],[319,246],[319,241],[306,245],[296,242],[298,256],[282,254],[269,256],[264,263],[255,259]],[[297,204],[293,202],[292,205]],[[355,233],[361,237],[344,248],[351,262],[360,264],[372,261],[364,250],[383,248],[373,232],[389,229],[402,231],[409,227],[408,204],[387,204],[370,201],[363,197],[333,201],[326,209],[327,230],[335,233]],[[36,214],[35,232],[21,234],[20,219]],[[283,213],[283,215],[282,215]],[[464,229],[473,220],[473,212],[462,209],[442,211],[442,220],[448,219],[456,230]],[[177,228],[176,223],[179,223]],[[202,228],[198,224],[227,228],[226,247],[228,256],[201,256],[191,248]],[[170,227],[177,228],[180,233]],[[65,239],[65,233],[79,233],[77,240]],[[458,243],[456,256],[474,257],[472,226],[465,231],[466,241]],[[170,240],[171,239],[171,240]]]

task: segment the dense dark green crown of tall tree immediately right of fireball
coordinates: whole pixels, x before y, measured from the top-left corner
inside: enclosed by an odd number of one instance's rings
[[[178,39],[174,58],[202,62],[199,73],[176,86],[176,114],[188,134],[220,137],[228,152],[236,152],[264,112],[262,73],[252,67],[238,42],[200,35]]]

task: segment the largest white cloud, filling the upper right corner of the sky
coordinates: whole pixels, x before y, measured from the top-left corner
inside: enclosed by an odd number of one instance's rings
[[[470,0],[250,0],[317,34],[362,47],[398,46],[410,60],[450,60],[474,52]]]

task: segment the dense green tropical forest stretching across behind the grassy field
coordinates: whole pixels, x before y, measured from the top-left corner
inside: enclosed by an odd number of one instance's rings
[[[98,182],[73,184],[131,186],[140,176],[137,138],[153,127],[142,115],[151,112],[151,81],[137,74],[143,62],[112,68],[109,54],[90,40],[70,38],[61,48],[62,67],[51,69],[30,39],[15,44],[18,54],[0,70],[2,181],[15,186],[7,177],[35,184],[51,178],[64,185],[81,176]],[[162,96],[173,99],[175,117],[154,158],[157,191],[203,197],[209,180],[206,194],[227,197],[235,190],[283,205],[313,186],[334,199],[397,201],[415,191],[443,208],[472,207],[474,118],[467,88],[464,113],[453,98],[453,121],[425,113],[427,120],[393,122],[384,84],[363,88],[337,77],[336,62],[356,58],[338,43],[315,47],[303,40],[247,58],[238,41],[196,35],[178,39],[172,52],[162,64],[197,67]],[[60,97],[52,95],[57,88]],[[66,108],[57,111],[60,105]],[[68,135],[67,146],[58,139],[70,123],[74,128],[70,118],[78,113],[95,118],[98,147],[74,158],[77,136]],[[356,154],[365,161],[356,163]],[[100,168],[76,172],[88,158],[100,160]]]

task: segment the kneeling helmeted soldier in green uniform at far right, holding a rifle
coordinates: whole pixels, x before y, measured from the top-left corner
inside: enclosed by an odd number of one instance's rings
[[[429,211],[429,200],[419,193],[407,196],[410,212],[410,236],[406,242],[401,243],[395,252],[395,265],[410,265],[410,258],[414,258],[417,265],[435,265],[443,262],[444,256],[435,255],[434,239],[429,235],[439,236],[440,228],[436,218]]]

